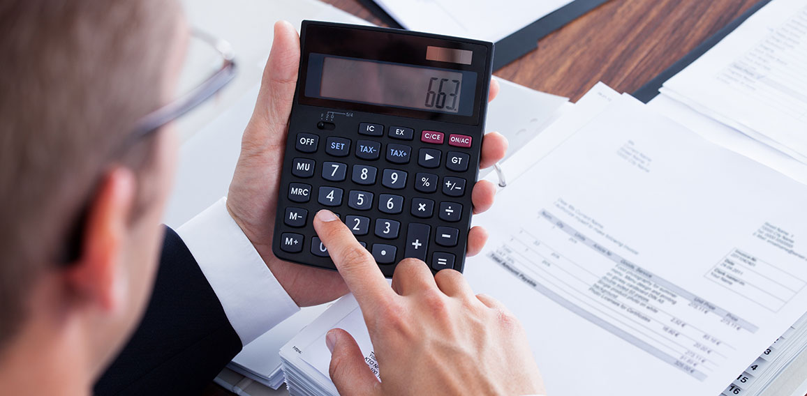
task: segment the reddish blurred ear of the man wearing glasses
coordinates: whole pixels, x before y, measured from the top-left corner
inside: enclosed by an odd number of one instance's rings
[[[129,169],[104,174],[87,208],[81,253],[68,269],[69,288],[76,298],[103,311],[114,311],[123,296],[120,260],[136,199],[135,183]]]

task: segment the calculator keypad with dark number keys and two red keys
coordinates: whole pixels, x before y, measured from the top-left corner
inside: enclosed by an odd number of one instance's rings
[[[329,262],[328,249],[312,226],[316,211],[328,208],[342,215],[388,277],[405,257],[433,271],[462,269],[470,227],[466,190],[477,164],[466,147],[471,136],[405,123],[328,125],[334,127],[290,134],[295,152],[286,164],[291,172],[275,236],[282,258],[334,268],[322,261]]]

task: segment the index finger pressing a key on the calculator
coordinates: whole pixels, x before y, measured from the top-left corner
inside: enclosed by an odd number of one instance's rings
[[[370,311],[395,295],[373,256],[336,215],[326,209],[317,212],[314,229],[362,311]]]

